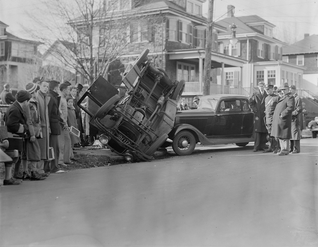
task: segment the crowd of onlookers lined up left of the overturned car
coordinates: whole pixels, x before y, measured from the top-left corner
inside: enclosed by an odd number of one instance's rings
[[[3,185],[44,180],[52,173],[65,172],[61,168],[78,160],[74,145],[86,145],[77,105],[82,89],[81,84],[36,77],[14,97],[10,85],[4,84],[1,103],[10,105],[3,117],[9,141],[6,150],[18,150],[18,155],[4,163]]]

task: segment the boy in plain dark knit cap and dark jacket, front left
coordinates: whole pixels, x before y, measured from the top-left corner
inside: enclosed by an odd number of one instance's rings
[[[26,114],[23,110],[23,107],[28,106],[31,97],[31,94],[25,90],[18,91],[15,97],[16,101],[9,106],[5,116],[5,125],[7,126],[9,136],[9,147],[7,150],[18,150],[19,156],[21,155],[24,146],[23,138],[29,134],[28,126],[26,124]],[[17,162],[15,164],[13,177],[11,176],[12,164],[5,164],[5,177],[3,180],[3,185],[14,185],[21,183],[21,181],[15,178],[22,178],[20,174],[20,164],[21,162]],[[23,171],[28,172],[27,166],[23,167]]]

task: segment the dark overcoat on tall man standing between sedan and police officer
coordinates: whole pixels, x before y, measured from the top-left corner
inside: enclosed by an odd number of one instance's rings
[[[267,93],[264,91],[264,95],[258,90],[252,94],[252,97],[249,100],[249,105],[254,113],[254,130],[255,132],[266,132],[266,125],[264,122],[265,117],[265,98]]]

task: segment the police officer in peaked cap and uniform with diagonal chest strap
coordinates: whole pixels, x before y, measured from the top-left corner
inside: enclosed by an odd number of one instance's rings
[[[265,91],[268,96],[265,98],[265,125],[268,131],[268,149],[264,150],[263,153],[273,152],[274,147],[277,146],[275,143],[275,137],[271,135],[272,131],[272,124],[273,124],[273,115],[274,110],[276,108],[277,102],[279,101],[280,97],[276,96],[273,92],[274,85],[266,84]]]

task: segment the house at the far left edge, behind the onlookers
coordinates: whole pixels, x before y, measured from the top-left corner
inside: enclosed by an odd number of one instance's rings
[[[40,64],[34,60],[40,42],[10,34],[0,21],[0,83],[10,83],[12,90],[21,90],[36,76]]]

